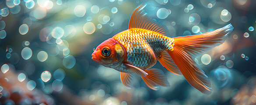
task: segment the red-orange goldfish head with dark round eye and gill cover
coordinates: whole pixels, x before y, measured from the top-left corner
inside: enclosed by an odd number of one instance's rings
[[[92,53],[92,59],[103,66],[113,68],[124,60],[125,50],[113,38],[102,42]]]

